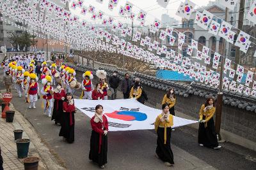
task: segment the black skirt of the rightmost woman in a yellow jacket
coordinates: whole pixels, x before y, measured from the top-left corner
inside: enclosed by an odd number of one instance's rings
[[[203,117],[204,119],[205,116]],[[207,122],[207,127],[205,127],[205,123],[199,123],[198,143],[209,148],[219,146],[213,118]]]

